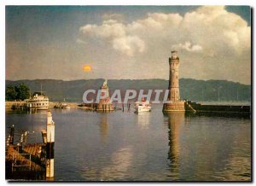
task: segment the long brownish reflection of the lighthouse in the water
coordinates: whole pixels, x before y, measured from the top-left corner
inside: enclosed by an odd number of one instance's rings
[[[168,159],[170,160],[170,171],[172,176],[177,177],[179,168],[179,154],[180,154],[180,127],[184,124],[184,112],[169,112],[164,113],[168,118],[168,138],[169,138],[169,152]]]

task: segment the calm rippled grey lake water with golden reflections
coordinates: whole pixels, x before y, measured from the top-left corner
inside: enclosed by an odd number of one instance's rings
[[[251,180],[251,119],[52,109],[55,180]],[[47,112],[6,113],[6,127],[43,142]],[[6,129],[6,135],[9,135]]]

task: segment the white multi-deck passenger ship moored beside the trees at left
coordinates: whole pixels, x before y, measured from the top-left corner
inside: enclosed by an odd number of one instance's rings
[[[26,108],[47,110],[49,107],[48,96],[38,96],[38,94],[36,94],[32,98],[26,99],[25,101],[26,101]]]

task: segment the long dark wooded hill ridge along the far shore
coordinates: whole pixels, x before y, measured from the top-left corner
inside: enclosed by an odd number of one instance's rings
[[[6,80],[6,85],[26,84],[31,92],[40,91],[41,84],[44,94],[49,96],[50,101],[82,102],[85,90],[98,90],[104,79],[72,80],[63,81],[56,79],[35,80]],[[218,101],[218,90],[220,101],[251,101],[251,85],[239,84],[225,80],[196,80],[181,78],[180,94],[182,99],[194,102]],[[166,90],[168,80],[165,79],[110,79],[108,80],[110,94],[113,90],[120,89],[124,96],[125,90]],[[147,92],[145,92],[147,93]],[[154,95],[153,95],[154,98]]]

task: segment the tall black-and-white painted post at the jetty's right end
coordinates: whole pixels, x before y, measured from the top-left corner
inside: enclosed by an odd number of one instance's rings
[[[46,143],[46,180],[53,180],[55,176],[55,122],[50,111],[47,113],[47,143]]]

